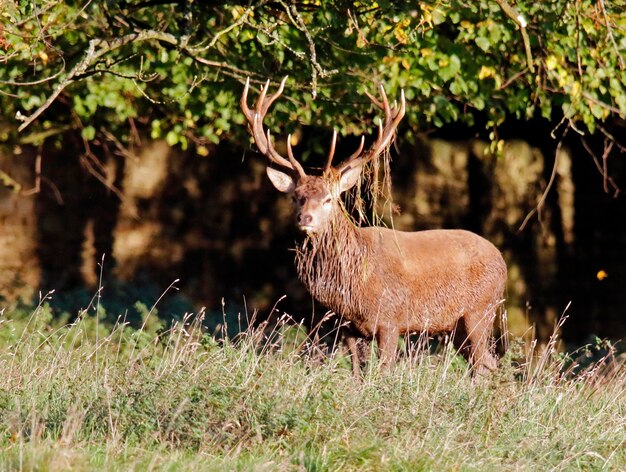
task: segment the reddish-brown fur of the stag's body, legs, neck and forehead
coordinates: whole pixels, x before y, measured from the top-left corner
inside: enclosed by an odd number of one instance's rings
[[[321,177],[310,176],[296,185],[294,194],[304,203],[298,219],[315,213],[325,187]],[[351,323],[346,344],[355,373],[355,335],[375,338],[387,364],[399,335],[452,332],[459,323],[467,333],[462,352],[475,370],[493,369],[491,332],[507,274],[495,246],[463,230],[356,227],[338,200],[333,205],[328,223],[299,248],[296,265],[311,295]]]

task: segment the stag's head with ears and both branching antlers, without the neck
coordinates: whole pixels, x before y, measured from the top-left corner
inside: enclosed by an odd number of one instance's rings
[[[250,79],[246,81],[241,96],[241,109],[248,121],[248,126],[259,151],[265,154],[271,163],[280,167],[267,167],[267,175],[274,187],[279,191],[292,196],[298,227],[307,233],[317,233],[328,225],[332,215],[340,207],[340,195],[352,188],[359,180],[363,165],[377,158],[392,142],[398,123],[404,116],[404,91],[400,94],[400,105],[394,102],[389,105],[383,86],[379,86],[382,100],[379,101],[366,92],[372,103],[385,113],[379,122],[378,138],[368,151],[363,151],[364,139],[361,145],[348,159],[338,166],[332,161],[337,143],[337,131],[333,133],[328,160],[322,175],[307,175],[302,165],[296,160],[291,149],[291,135],[287,138],[287,158],[281,156],[272,145],[269,130],[263,130],[263,118],[274,101],[282,94],[285,87],[285,77],[276,93],[267,95],[270,81],[268,80],[257,99],[254,109],[248,107],[248,90]]]

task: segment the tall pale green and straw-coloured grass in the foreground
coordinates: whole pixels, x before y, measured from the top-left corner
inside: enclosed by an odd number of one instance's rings
[[[356,380],[295,328],[217,340],[201,318],[3,314],[0,470],[626,469],[626,373],[607,358],[514,344],[473,380],[450,350],[408,349]]]

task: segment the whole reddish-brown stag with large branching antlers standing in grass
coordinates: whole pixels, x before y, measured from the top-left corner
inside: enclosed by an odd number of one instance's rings
[[[241,109],[256,147],[269,159],[269,180],[293,199],[295,220],[305,235],[296,251],[298,277],[317,302],[346,322],[342,339],[354,375],[360,375],[359,339],[376,341],[384,367],[396,361],[399,337],[413,333],[450,333],[473,375],[494,370],[493,325],[507,280],[500,251],[487,239],[461,229],[404,232],[359,226],[342,201],[342,194],[359,182],[364,165],[394,140],[406,110],[404,91],[393,104],[382,85],[380,99],[365,92],[384,113],[376,140],[364,151],[361,138],[359,148],[333,166],[335,130],[323,172],[310,175],[294,157],[291,136],[284,157],[263,128],[286,79],[271,95],[268,80],[254,108],[248,106],[248,79]]]

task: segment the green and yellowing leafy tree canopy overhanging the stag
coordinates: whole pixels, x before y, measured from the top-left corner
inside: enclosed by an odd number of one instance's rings
[[[372,126],[363,90],[403,88],[414,129],[626,118],[626,2],[0,0],[4,142],[68,129],[171,145],[245,138],[250,77],[290,79],[267,124]],[[19,131],[18,131],[19,127]]]

